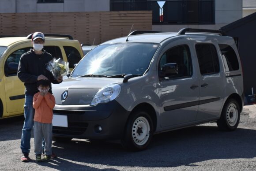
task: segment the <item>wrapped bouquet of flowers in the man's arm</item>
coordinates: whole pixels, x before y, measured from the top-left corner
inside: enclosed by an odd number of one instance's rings
[[[47,63],[46,69],[49,70],[56,79],[58,76],[65,76],[68,74],[68,62],[65,62],[60,58],[53,58]]]

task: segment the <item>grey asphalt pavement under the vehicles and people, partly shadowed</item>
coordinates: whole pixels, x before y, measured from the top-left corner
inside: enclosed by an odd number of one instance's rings
[[[156,134],[142,152],[117,142],[53,142],[58,157],[48,163],[34,161],[33,134],[32,161],[20,161],[22,126],[23,116],[0,120],[0,171],[256,171],[256,104],[245,105],[235,131],[207,123]]]

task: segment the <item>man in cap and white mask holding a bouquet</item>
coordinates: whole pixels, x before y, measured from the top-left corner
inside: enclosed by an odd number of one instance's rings
[[[33,128],[34,108],[33,96],[38,92],[37,82],[49,79],[53,84],[62,82],[62,77],[54,79],[53,74],[46,69],[46,64],[53,59],[43,47],[45,36],[41,32],[35,32],[32,36],[33,49],[24,53],[19,61],[18,77],[25,85],[25,104],[24,104],[24,125],[22,129],[20,149],[23,153],[21,161],[28,162],[30,152],[31,130]],[[52,93],[50,86],[49,93]]]

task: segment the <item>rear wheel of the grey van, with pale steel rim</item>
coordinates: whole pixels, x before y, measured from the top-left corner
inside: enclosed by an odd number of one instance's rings
[[[235,130],[240,120],[240,107],[235,99],[226,101],[217,125],[221,130]]]

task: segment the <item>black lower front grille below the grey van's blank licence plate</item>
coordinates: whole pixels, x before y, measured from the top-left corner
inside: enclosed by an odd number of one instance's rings
[[[53,126],[53,134],[80,135],[86,131],[87,127],[88,123],[68,122],[68,127]]]

